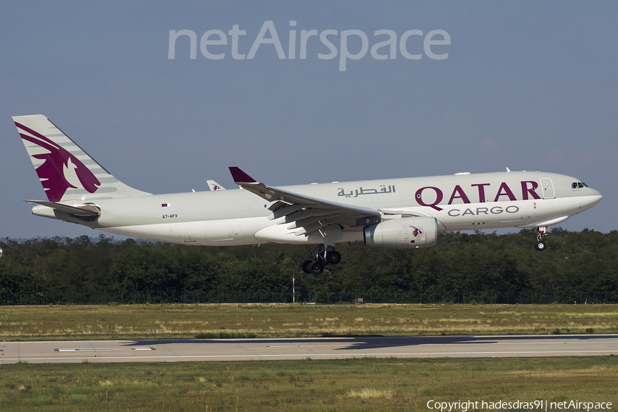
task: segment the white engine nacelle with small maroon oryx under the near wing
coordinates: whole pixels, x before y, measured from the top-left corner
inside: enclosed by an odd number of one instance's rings
[[[424,216],[386,220],[365,227],[365,246],[391,249],[416,249],[437,242],[437,220]]]

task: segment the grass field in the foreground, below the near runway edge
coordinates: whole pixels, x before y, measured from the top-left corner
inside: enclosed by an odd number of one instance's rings
[[[483,400],[618,404],[618,356],[17,364],[3,365],[0,379],[0,411],[429,411],[430,400],[470,400],[478,409]]]

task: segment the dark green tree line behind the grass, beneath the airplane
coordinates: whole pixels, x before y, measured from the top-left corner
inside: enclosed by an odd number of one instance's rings
[[[555,228],[547,250],[534,250],[534,231],[442,233],[427,249],[366,249],[338,245],[341,264],[322,275],[300,270],[313,247],[194,247],[101,235],[0,242],[3,295],[154,293],[157,290],[291,290],[303,293],[615,293],[618,231]]]

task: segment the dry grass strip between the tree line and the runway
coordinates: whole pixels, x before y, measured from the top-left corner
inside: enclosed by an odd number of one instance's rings
[[[613,305],[0,306],[0,339],[618,332]]]

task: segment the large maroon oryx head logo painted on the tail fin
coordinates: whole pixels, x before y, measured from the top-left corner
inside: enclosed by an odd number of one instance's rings
[[[31,155],[42,160],[43,164],[36,168],[36,174],[41,179],[45,194],[51,202],[59,202],[68,189],[87,190],[94,193],[101,185],[99,179],[82,161],[41,133],[15,122],[19,135],[25,141],[40,146],[46,152]]]

